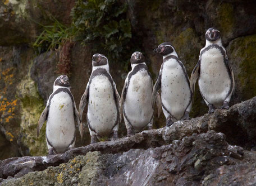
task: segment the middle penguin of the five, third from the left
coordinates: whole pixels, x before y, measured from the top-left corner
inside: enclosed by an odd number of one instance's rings
[[[152,129],[153,113],[151,96],[153,81],[145,63],[145,57],[139,51],[131,55],[131,71],[127,74],[121,94],[121,106],[127,136],[140,132],[145,126]],[[161,112],[161,101],[157,94],[158,117]]]

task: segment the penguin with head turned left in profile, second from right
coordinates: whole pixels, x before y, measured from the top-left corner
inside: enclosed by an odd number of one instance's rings
[[[190,81],[185,66],[179,60],[175,48],[170,42],[163,42],[154,53],[163,56],[163,63],[154,84],[152,93],[152,105],[156,94],[161,89],[161,102],[166,126],[179,120],[189,120],[193,94],[190,89]]]

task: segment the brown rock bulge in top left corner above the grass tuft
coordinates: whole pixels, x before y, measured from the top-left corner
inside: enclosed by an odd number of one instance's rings
[[[52,22],[50,16],[64,24],[70,24],[70,11],[74,0],[1,0],[0,1],[0,45],[29,44],[42,27]]]

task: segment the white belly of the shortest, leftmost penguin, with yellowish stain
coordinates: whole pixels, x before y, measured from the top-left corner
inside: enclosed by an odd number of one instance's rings
[[[66,92],[57,93],[51,99],[46,135],[58,152],[65,151],[74,139],[74,108],[72,99]]]

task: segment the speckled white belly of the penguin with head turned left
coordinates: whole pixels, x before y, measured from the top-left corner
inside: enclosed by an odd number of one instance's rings
[[[191,101],[190,87],[184,71],[176,59],[163,63],[161,100],[167,111],[180,120]]]

